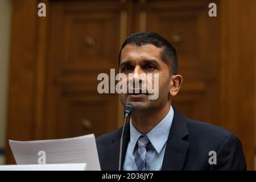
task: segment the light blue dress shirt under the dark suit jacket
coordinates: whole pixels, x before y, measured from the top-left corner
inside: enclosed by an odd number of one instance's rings
[[[152,144],[152,149],[147,151],[146,166],[147,170],[159,171],[162,168],[164,152],[166,151],[166,142],[170,133],[172,119],[174,118],[174,109],[170,107],[170,111],[164,119],[158,123],[146,135]],[[130,141],[127,146],[125,162],[123,163],[123,170],[131,171],[135,159],[135,148],[141,133],[133,126],[130,120]]]

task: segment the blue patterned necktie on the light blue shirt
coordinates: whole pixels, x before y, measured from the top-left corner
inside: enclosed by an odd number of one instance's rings
[[[135,155],[135,160],[133,163],[133,171],[146,171],[146,157],[147,157],[147,147],[150,144],[150,140],[147,135],[141,135],[138,139],[138,151]],[[148,168],[147,168],[148,169]]]

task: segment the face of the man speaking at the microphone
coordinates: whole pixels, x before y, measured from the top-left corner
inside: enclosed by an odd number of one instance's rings
[[[162,61],[163,48],[155,47],[153,44],[146,44],[144,46],[133,46],[127,44],[122,49],[120,58],[119,72],[125,73],[127,76],[127,88],[129,78],[135,81],[134,77],[128,77],[129,73],[137,73],[141,75],[142,73],[152,73],[152,82],[147,79],[146,84],[154,86],[154,74],[158,73],[159,76],[159,97],[156,100],[148,100],[148,93],[146,94],[129,94],[121,93],[120,99],[122,105],[125,106],[127,103],[131,103],[136,111],[150,111],[157,110],[164,107],[168,101],[170,101],[170,69]],[[142,79],[140,77],[140,88]]]

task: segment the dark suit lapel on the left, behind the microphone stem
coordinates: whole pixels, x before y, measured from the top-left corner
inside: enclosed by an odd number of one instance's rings
[[[119,162],[119,148],[120,148],[120,138],[122,134],[122,128],[118,130],[118,133],[114,135],[112,138],[112,144],[106,147],[105,159],[104,159],[104,169],[102,170],[110,170],[117,171],[118,170],[118,162]],[[130,122],[125,126],[125,133],[123,134],[123,150],[122,150],[122,162],[121,166],[123,166],[123,161],[125,160],[125,154],[127,150],[127,145],[130,140]]]

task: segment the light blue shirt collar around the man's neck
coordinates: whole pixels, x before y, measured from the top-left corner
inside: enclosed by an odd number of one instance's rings
[[[163,120],[154,127],[154,129],[152,129],[150,132],[147,133],[148,139],[150,140],[152,146],[154,146],[158,154],[162,150],[164,144],[166,144],[167,142],[173,118],[174,118],[174,109],[171,106],[166,117],[164,117]],[[137,129],[135,129],[130,119],[130,144],[133,151],[141,135],[142,134]]]

